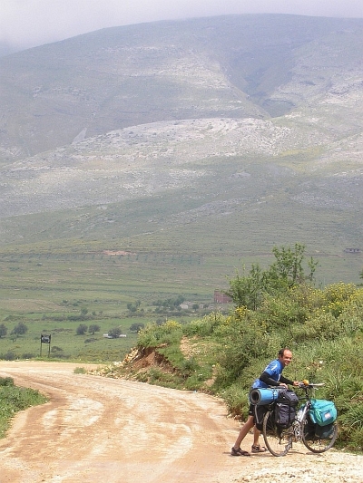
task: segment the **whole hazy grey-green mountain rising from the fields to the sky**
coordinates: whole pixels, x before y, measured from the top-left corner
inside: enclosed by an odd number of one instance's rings
[[[0,58],[2,245],[235,266],[299,241],[327,279],[357,280],[344,250],[363,250],[362,51],[363,20],[260,14]]]

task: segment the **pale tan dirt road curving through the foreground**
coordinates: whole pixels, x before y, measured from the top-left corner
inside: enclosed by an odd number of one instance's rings
[[[363,482],[363,457],[334,450],[233,458],[239,424],[221,401],[75,367],[0,362],[1,377],[50,398],[17,415],[0,440],[0,483]],[[250,443],[249,435],[243,448]]]

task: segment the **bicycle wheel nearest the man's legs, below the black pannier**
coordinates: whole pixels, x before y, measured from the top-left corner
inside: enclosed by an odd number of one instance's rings
[[[292,445],[292,427],[281,430],[275,424],[274,410],[267,411],[262,426],[263,440],[273,456],[285,456]]]

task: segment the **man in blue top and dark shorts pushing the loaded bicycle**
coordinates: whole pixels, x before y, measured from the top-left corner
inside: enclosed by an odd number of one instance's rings
[[[292,361],[292,353],[288,348],[280,349],[278,359],[271,361],[269,365],[266,366],[264,371],[261,373],[260,377],[256,379],[251,389],[267,388],[270,386],[288,388],[289,385],[299,386],[298,381],[290,381],[282,375],[284,367],[289,365]],[[232,456],[250,456],[248,451],[240,449],[240,443],[247,436],[249,431],[253,428],[253,444],[252,453],[263,453],[266,451],[265,447],[260,447],[259,437],[260,430],[256,428],[256,421],[254,416],[254,406],[250,404],[249,417],[245,424],[240,428],[240,434],[231,449]]]

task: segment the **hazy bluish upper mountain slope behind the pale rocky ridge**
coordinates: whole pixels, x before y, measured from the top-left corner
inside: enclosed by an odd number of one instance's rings
[[[69,144],[83,130],[266,119],[347,96],[359,89],[362,27],[223,16],[108,28],[8,55],[0,59],[3,162]]]

